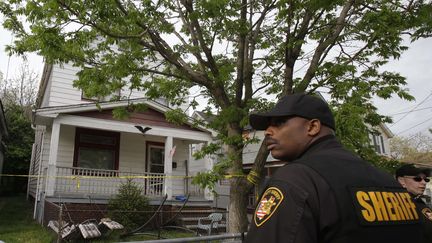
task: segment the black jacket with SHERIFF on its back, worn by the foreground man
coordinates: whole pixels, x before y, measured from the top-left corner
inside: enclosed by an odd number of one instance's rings
[[[312,161],[319,163],[320,169],[317,170]],[[353,199],[347,198],[347,189],[353,190],[357,183],[368,188],[355,191],[360,193],[356,195],[370,191],[372,195],[382,192],[396,198],[400,196],[397,191],[403,191],[389,174],[377,171],[343,150],[333,136],[318,139],[300,159],[278,169],[269,180],[252,215],[246,242],[419,242],[418,220],[413,215],[406,219],[396,217],[396,222],[386,218],[384,226],[378,225],[382,224],[378,218],[368,218],[374,225],[369,227],[361,227],[358,220],[354,221],[358,212],[364,213],[362,219],[366,219],[368,212],[380,212],[373,211],[366,201],[356,201],[363,203],[360,205],[363,209],[354,208]],[[333,191],[335,188],[340,191]],[[398,205],[394,203],[388,202],[387,209],[393,210],[390,208]],[[404,226],[405,223],[408,224]]]

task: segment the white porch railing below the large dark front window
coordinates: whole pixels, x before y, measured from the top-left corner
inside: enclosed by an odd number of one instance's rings
[[[98,170],[81,167],[56,167],[55,193],[110,196],[118,193],[130,178],[149,197],[163,195],[164,174]]]

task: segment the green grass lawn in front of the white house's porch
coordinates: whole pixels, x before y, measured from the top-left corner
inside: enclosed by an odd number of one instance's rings
[[[32,218],[33,206],[25,196],[0,197],[0,240],[5,243],[49,243],[56,242],[57,236],[50,229],[42,227]],[[157,234],[157,232],[154,232]],[[162,231],[164,238],[191,237],[194,234],[179,231]],[[119,234],[87,242],[119,242],[155,240],[154,236],[136,235],[120,238]]]

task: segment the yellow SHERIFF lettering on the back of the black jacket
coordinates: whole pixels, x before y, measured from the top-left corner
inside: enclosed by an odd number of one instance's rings
[[[418,222],[416,205],[405,191],[392,188],[354,188],[351,193],[362,225]]]

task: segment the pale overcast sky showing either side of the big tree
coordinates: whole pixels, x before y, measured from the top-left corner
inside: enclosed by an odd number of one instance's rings
[[[0,71],[3,78],[13,78],[23,63],[21,57],[8,57],[5,45],[12,41],[11,34],[0,27]],[[397,97],[390,100],[376,100],[375,104],[383,115],[392,115],[394,124],[387,124],[397,136],[410,137],[417,132],[429,134],[432,128],[432,39],[408,43],[410,49],[399,60],[391,61],[386,69],[397,71],[407,78],[410,94],[416,99],[414,102],[401,100]],[[28,54],[30,68],[39,77],[42,76],[43,59],[35,54]],[[9,63],[9,68],[8,68]]]

